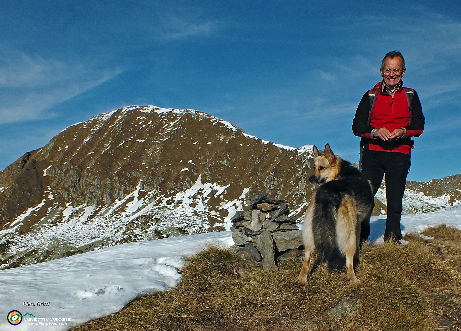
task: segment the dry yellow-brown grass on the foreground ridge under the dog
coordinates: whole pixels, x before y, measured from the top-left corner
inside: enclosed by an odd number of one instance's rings
[[[434,239],[364,245],[356,285],[324,265],[301,284],[301,259],[266,272],[209,248],[188,260],[175,289],[73,330],[461,330],[461,231],[439,226],[425,235]],[[360,302],[354,313],[329,315],[344,298]]]

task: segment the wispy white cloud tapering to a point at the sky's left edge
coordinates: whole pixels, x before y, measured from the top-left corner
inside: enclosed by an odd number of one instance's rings
[[[2,49],[0,124],[47,118],[43,111],[122,72]]]

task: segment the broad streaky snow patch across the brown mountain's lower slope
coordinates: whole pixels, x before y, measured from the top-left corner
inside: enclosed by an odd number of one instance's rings
[[[185,191],[172,196],[155,197],[155,191],[142,191],[140,181],[133,192],[108,206],[83,204],[72,207],[71,204],[67,204],[65,207],[56,207],[53,211],[60,210],[59,214],[64,217],[63,222],[56,223],[54,218],[45,217],[48,221],[35,225],[34,231],[11,240],[9,251],[18,253],[31,249],[47,250],[47,246],[55,245],[56,240],[75,248],[95,242],[101,242],[102,247],[110,246],[124,240],[128,234],[127,229],[140,223],[141,216],[146,217],[147,221],[144,222],[147,223],[140,229],[131,229],[129,233],[141,241],[156,239],[156,231],[162,231],[165,236],[207,232],[210,230],[207,215],[218,221],[221,217],[213,211],[220,209],[226,211],[221,222],[225,229],[229,230],[231,217],[237,209],[242,209],[249,191],[243,189],[240,200],[226,201],[223,195],[230,186],[231,184],[221,186],[217,183],[202,183],[200,175],[195,184]],[[220,206],[210,206],[208,201],[212,197],[220,197],[223,202]],[[29,208],[18,216],[10,227],[22,222],[44,204],[45,200],[38,206]],[[177,229],[184,232],[177,232]],[[10,239],[14,232],[5,231],[1,235],[3,240]]]

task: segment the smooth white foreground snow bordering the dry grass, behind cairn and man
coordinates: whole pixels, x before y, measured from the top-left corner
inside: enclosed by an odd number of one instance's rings
[[[429,226],[453,225],[461,230],[461,206],[436,212],[402,215],[402,232],[420,233]],[[382,242],[385,216],[373,216],[370,241]],[[430,239],[426,237],[425,239]],[[154,241],[130,242],[67,258],[0,271],[0,330],[61,331],[115,313],[136,297],[170,290],[180,280],[184,256],[214,243],[233,245],[231,232],[212,232]],[[35,306],[24,306],[24,302]],[[49,302],[39,306],[37,302]],[[34,315],[10,325],[5,318],[18,310]],[[50,322],[53,318],[53,322]],[[67,325],[50,325],[54,319]],[[48,319],[48,320],[47,320]],[[68,320],[70,319],[70,320]],[[28,323],[42,323],[29,325]],[[46,325],[48,323],[48,325]]]

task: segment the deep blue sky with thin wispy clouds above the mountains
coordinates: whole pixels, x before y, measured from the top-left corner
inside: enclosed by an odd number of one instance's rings
[[[426,130],[410,180],[461,173],[458,1],[0,2],[0,169],[128,105],[192,108],[265,140],[358,161],[357,104],[406,60]]]

